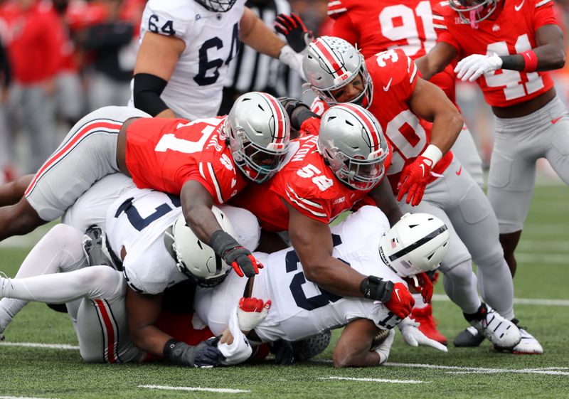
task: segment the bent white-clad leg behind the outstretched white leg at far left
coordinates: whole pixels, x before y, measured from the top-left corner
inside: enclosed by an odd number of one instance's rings
[[[16,279],[85,267],[87,262],[81,246],[82,238],[80,230],[68,225],[55,225],[23,260]],[[9,282],[6,284],[10,285]],[[40,289],[48,291],[53,287],[45,282]],[[26,299],[0,299],[0,334],[27,303]]]

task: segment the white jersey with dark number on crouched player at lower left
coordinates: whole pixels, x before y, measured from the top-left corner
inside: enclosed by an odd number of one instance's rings
[[[107,213],[107,238],[115,255],[124,257],[124,277],[132,289],[159,294],[188,277],[164,245],[164,231],[181,214],[177,196],[133,188],[123,193]]]

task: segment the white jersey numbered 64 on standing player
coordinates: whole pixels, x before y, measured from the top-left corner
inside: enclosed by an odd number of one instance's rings
[[[245,0],[225,13],[208,11],[193,0],[148,1],[140,41],[150,31],[186,43],[160,96],[177,116],[193,120],[217,115],[228,65],[239,50],[244,10]]]

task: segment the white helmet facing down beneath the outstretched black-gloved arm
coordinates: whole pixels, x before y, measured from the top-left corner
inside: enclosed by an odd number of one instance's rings
[[[219,208],[211,208],[223,231],[233,238],[237,237],[233,225]],[[230,272],[231,267],[223,262],[213,249],[203,243],[191,228],[186,225],[184,215],[180,215],[172,226],[174,243],[172,248],[176,253],[176,266],[201,287],[215,287],[220,284]]]

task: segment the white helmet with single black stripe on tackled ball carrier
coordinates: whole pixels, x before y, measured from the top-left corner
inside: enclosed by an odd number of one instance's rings
[[[405,213],[379,242],[383,262],[401,277],[430,272],[447,254],[445,222],[429,213]]]

